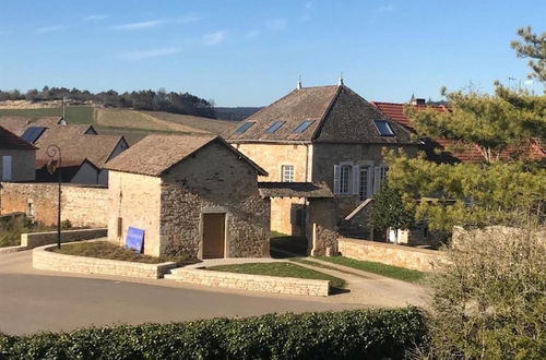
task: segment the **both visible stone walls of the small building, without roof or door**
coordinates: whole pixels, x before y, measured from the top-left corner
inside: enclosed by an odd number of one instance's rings
[[[222,213],[226,257],[266,256],[270,202],[260,196],[257,177],[221,143],[201,148],[161,178],[111,170],[109,239],[123,241],[133,226],[145,230],[146,254],[201,259],[203,216]]]

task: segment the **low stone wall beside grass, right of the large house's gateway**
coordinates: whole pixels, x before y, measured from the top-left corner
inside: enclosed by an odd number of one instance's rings
[[[341,254],[346,257],[373,261],[422,272],[431,272],[434,264],[443,259],[443,253],[437,250],[348,238],[340,238],[337,247]]]

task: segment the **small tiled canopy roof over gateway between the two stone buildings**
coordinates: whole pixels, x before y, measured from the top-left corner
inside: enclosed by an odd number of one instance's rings
[[[334,197],[324,182],[259,182],[262,197]]]

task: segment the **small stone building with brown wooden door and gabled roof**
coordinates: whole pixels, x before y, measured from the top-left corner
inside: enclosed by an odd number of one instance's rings
[[[108,238],[144,230],[144,253],[193,259],[269,255],[268,173],[215,135],[149,135],[107,163]]]

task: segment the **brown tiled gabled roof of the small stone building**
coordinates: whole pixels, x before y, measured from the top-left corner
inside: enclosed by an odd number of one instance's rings
[[[252,167],[258,175],[268,175],[265,170],[217,135],[147,135],[131,148],[108,161],[106,168],[121,172],[159,177],[173,166],[214,142],[224,145]]]

